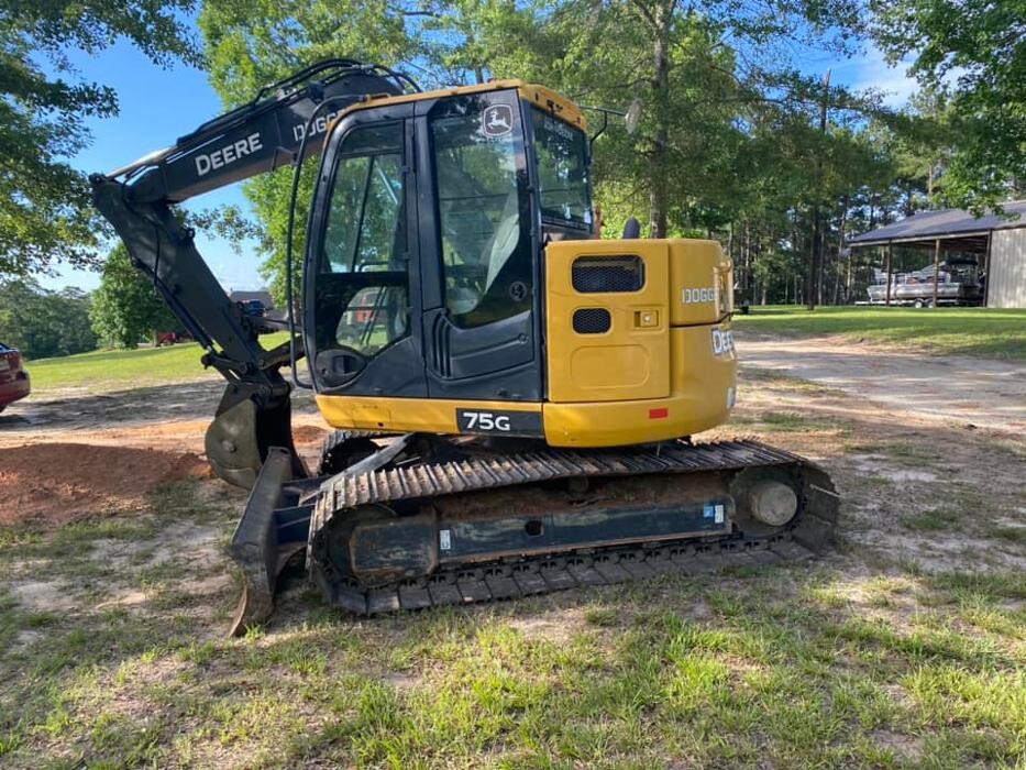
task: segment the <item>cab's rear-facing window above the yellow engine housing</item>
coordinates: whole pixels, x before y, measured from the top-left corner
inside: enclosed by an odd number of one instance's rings
[[[542,219],[591,229],[592,200],[584,132],[537,108],[533,118]]]

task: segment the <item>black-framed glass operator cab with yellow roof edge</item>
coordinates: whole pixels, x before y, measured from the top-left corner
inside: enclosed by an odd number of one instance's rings
[[[592,222],[584,119],[554,94],[503,81],[351,108],[304,265],[319,396],[541,402],[543,248]],[[340,427],[397,427],[352,414]]]

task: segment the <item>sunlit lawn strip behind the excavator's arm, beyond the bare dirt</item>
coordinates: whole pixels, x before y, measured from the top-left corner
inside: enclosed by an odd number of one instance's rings
[[[265,348],[285,342],[285,332],[261,338]],[[202,349],[195,342],[166,348],[137,350],[97,350],[60,359],[40,359],[26,365],[32,375],[34,393],[62,388],[86,388],[90,392],[163,385],[164,383],[218,377],[217,371],[203,370]]]

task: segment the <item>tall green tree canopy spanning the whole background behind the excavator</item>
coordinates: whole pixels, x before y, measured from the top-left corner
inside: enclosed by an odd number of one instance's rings
[[[596,143],[605,234],[636,216],[651,235],[718,238],[747,298],[818,302],[850,300],[870,274],[843,250],[846,233],[927,205],[979,210],[1026,178],[1024,3],[205,0],[198,25],[225,108],[331,56],[398,66],[426,87],[521,77],[578,103],[637,105],[636,132],[614,121]],[[125,37],[158,64],[196,63],[194,4],[0,0],[0,274],[98,262],[103,229],[67,158],[89,140],[80,118],[114,114],[117,98],[77,78],[67,50]],[[923,90],[907,109],[802,66],[858,55],[869,40],[894,62],[911,57]],[[278,301],[290,177],[246,183],[255,228],[238,212],[197,219],[256,235]]]

